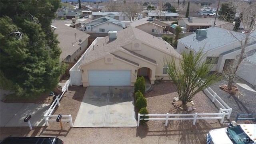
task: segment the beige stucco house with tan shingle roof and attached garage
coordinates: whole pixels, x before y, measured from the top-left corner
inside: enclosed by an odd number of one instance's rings
[[[150,83],[168,80],[164,57],[180,54],[162,38],[128,27],[96,42],[80,64],[82,84],[87,86],[134,86],[137,76],[148,76]]]

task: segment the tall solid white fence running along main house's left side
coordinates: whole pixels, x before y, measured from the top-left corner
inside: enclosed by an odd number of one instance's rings
[[[96,42],[104,37],[97,37],[92,44],[87,48],[87,50],[84,52],[84,54],[82,54],[82,56],[78,59],[78,61],[76,62],[76,64],[70,68],[69,70],[69,75],[70,75],[70,80],[71,80],[71,85],[74,86],[80,86],[82,85],[82,76],[81,76],[81,72],[80,72],[80,64],[82,64],[82,62],[84,61],[84,59],[86,58],[86,56],[92,51],[94,50],[94,45],[96,44]]]

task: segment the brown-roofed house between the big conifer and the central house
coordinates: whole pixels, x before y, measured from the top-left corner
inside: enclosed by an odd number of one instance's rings
[[[72,28],[62,20],[52,22],[54,33],[58,34],[61,49],[60,62],[76,62],[88,48],[89,34]]]

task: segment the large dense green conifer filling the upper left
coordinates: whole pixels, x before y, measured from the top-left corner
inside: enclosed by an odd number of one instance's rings
[[[0,1],[1,88],[32,98],[53,90],[65,66],[51,28],[60,0]]]

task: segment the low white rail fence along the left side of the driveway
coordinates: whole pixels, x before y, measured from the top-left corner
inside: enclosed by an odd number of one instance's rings
[[[64,95],[64,93],[66,91],[68,91],[68,86],[70,86],[70,80],[67,80],[65,83],[64,88],[62,88],[62,94],[56,96],[56,99],[54,100],[54,102],[52,102],[52,105],[50,106],[50,108],[48,109],[48,111],[46,112],[46,114],[44,115],[44,121],[46,126],[48,126],[48,122],[56,122],[56,118],[58,117],[58,115],[52,115],[52,113],[54,112],[54,109],[56,108],[56,106],[60,106],[60,99],[62,98],[62,96]],[[53,118],[53,119],[51,119]],[[68,118],[68,119],[61,119],[62,122],[70,122],[70,126],[73,127],[73,122],[72,122],[72,117],[71,114],[70,115],[66,115],[66,116],[62,116],[62,118]]]

